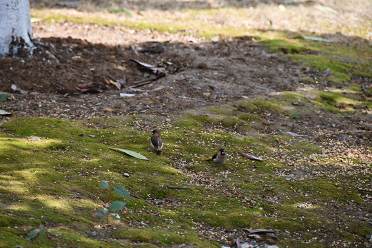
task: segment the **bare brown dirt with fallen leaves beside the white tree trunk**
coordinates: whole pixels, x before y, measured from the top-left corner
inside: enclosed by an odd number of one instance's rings
[[[0,92],[12,93],[11,101],[0,102],[0,107],[12,116],[173,116],[242,97],[328,86],[327,82],[302,82],[303,77],[319,78],[323,72],[303,70],[286,57],[271,54],[252,37],[212,41],[88,23],[34,23],[33,31],[43,53],[36,51],[34,59],[0,60]],[[133,60],[155,65],[163,74]],[[121,90],[110,81],[121,85]],[[360,79],[353,82],[359,84]],[[22,92],[14,92],[12,85]],[[336,123],[370,138],[367,123],[354,127],[352,120],[345,118],[340,123],[323,116],[307,116],[303,121],[311,121],[298,123],[292,131],[311,134],[319,125],[332,129]],[[281,123],[276,125],[280,129]],[[334,133],[340,134],[337,129]]]

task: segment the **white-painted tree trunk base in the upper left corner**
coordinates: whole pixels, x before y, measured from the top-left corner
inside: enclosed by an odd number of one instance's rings
[[[33,48],[28,0],[0,0],[0,56],[17,53],[19,45]]]

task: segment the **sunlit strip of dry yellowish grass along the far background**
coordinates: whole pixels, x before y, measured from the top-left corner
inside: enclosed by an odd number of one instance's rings
[[[302,30],[316,34],[340,32],[349,37],[371,39],[372,21],[369,0],[353,1],[88,1],[76,10],[52,8],[55,3],[37,1],[32,7],[48,6],[48,14],[67,14],[75,17],[89,15],[110,21],[132,21],[189,27],[237,27],[249,29]],[[283,3],[283,4],[280,4]],[[291,4],[285,4],[291,3]],[[326,7],[326,8],[323,8]],[[125,14],[97,12],[106,8],[129,10]],[[41,10],[38,10],[38,12]],[[43,11],[41,11],[43,12]],[[271,24],[270,24],[271,21]]]

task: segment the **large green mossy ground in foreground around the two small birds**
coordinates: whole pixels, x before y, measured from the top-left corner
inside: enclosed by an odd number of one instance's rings
[[[335,94],[351,94],[353,90]],[[318,158],[324,160],[322,147],[307,138],[263,132],[268,125],[266,112],[291,123],[296,121],[288,117],[291,113],[301,118],[317,109],[321,99],[328,105],[338,102],[332,94],[319,94],[316,101],[311,101],[306,94],[284,92],[271,99],[258,97],[221,106],[224,111],[211,107],[203,115],[175,116],[174,123],[161,127],[165,143],[162,156],[148,150],[152,127],[139,122],[151,119],[154,125],[162,123],[154,116],[90,121],[14,118],[2,126],[11,131],[0,134],[0,238],[7,245],[27,247],[130,247],[134,243],[143,247],[218,247],[218,242],[195,228],[201,224],[206,229],[278,229],[281,247],[293,242],[326,247],[327,238],[316,240],[320,233],[360,242],[371,232],[369,224],[347,214],[333,216],[330,211],[338,210],[329,207],[329,203],[337,203],[366,209],[358,185],[349,184],[351,176],[313,176],[311,171],[319,167]],[[298,100],[305,105],[289,110],[291,103]],[[255,128],[250,123],[255,123]],[[108,147],[139,152],[149,161]],[[228,151],[227,167],[205,162],[219,147]],[[261,156],[265,161],[248,161],[237,152]],[[310,157],[315,158],[314,162]],[[291,163],[299,159],[300,164]],[[366,161],[354,162],[354,166],[367,166]],[[302,174],[289,178],[282,174],[291,170],[302,170]],[[360,180],[371,180],[370,174],[358,176]],[[198,183],[203,178],[209,183]],[[107,239],[103,228],[105,222],[93,216],[103,202],[118,200],[112,192],[99,188],[102,180],[150,199],[132,198],[127,202],[126,209],[119,213],[121,223],[110,220],[111,239]],[[165,185],[190,189],[168,189]],[[352,228],[336,228],[339,221]],[[28,240],[26,230],[30,227],[45,227],[47,238]],[[99,236],[93,236],[92,231]],[[298,240],[287,232],[296,233]]]

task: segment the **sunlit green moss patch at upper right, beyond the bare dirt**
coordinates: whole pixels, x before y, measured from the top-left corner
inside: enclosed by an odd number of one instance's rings
[[[262,32],[260,42],[273,52],[287,54],[294,61],[320,71],[328,71],[324,80],[335,83],[350,81],[351,75],[371,77],[372,48],[367,43],[342,45],[304,39],[296,32]],[[299,39],[301,38],[301,39]],[[318,79],[319,80],[319,79]]]

